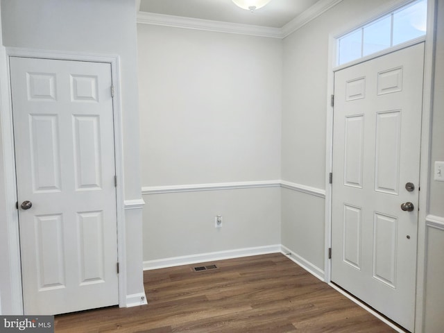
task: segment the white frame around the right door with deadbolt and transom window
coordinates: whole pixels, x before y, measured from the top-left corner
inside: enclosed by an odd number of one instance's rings
[[[425,41],[425,56],[424,56],[424,80],[422,89],[422,123],[421,123],[421,146],[420,146],[420,188],[419,193],[419,207],[422,208],[418,214],[418,250],[417,250],[417,268],[416,268],[416,313],[415,313],[415,332],[421,333],[423,327],[423,311],[424,299],[423,293],[425,290],[425,221],[429,212],[428,187],[429,187],[429,168],[430,168],[430,143],[432,133],[432,101],[433,101],[433,81],[434,81],[434,47],[435,47],[435,25],[436,25],[436,0],[427,0],[427,34],[418,40],[413,40],[400,46],[393,47],[386,51],[376,53],[373,56],[361,58],[348,65],[336,65],[336,40],[341,35],[352,31],[353,29],[370,22],[373,19],[381,17],[387,12],[391,12],[396,8],[411,2],[412,0],[392,0],[380,6],[372,12],[368,12],[364,17],[360,17],[348,24],[345,24],[336,31],[330,33],[329,36],[329,55],[327,64],[327,99],[326,99],[326,146],[325,146],[325,256],[324,256],[324,281],[331,283],[332,263],[329,259],[329,249],[332,246],[332,184],[330,184],[330,173],[332,172],[332,158],[333,158],[333,107],[331,105],[331,96],[334,94],[334,72],[345,67],[357,65],[360,62],[382,56],[386,53],[398,51],[407,46],[418,44]],[[336,288],[336,287],[335,287]],[[348,294],[344,293],[345,296]],[[350,297],[350,296],[348,296]],[[371,311],[364,303],[352,298],[362,307]],[[373,314],[378,316],[375,311]],[[386,321],[390,325],[389,322]],[[398,327],[393,328],[397,329]],[[400,331],[402,332],[402,331]]]

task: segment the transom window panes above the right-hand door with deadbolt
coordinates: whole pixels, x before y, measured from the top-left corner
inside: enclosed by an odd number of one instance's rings
[[[427,31],[427,0],[408,3],[337,38],[336,65],[416,40]]]

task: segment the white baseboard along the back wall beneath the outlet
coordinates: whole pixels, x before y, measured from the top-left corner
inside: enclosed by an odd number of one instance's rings
[[[259,246],[256,248],[238,248],[236,250],[203,253],[198,255],[185,255],[182,257],[170,257],[164,259],[148,260],[144,262],[144,271],[151,269],[166,268],[197,264],[200,262],[214,262],[216,260],[250,257],[252,255],[266,255],[268,253],[280,253],[280,245]]]

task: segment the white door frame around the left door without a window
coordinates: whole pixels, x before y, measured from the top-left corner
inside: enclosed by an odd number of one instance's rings
[[[12,282],[12,300],[17,302],[14,305],[17,314],[24,314],[23,290],[22,290],[22,268],[20,259],[19,244],[19,214],[15,209],[17,203],[17,182],[15,173],[15,149],[12,130],[12,103],[10,100],[10,57],[40,58],[52,60],[74,60],[84,62],[102,62],[111,66],[112,85],[114,86],[114,97],[112,108],[114,116],[114,159],[117,176],[116,187],[116,207],[117,207],[117,259],[119,262],[119,307],[127,306],[127,276],[126,276],[126,237],[125,237],[125,202],[123,187],[123,130],[122,130],[122,110],[121,110],[121,87],[120,87],[120,59],[119,56],[97,53],[81,53],[69,51],[43,51],[24,48],[6,48],[6,71],[8,84],[8,103],[3,99],[1,108],[1,120],[3,130],[3,151],[6,184],[6,204],[8,210],[8,237],[10,239],[10,275]],[[3,96],[2,96],[3,97]],[[18,300],[21,300],[19,303]]]

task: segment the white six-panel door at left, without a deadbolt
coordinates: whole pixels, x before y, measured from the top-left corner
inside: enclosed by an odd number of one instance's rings
[[[110,64],[11,58],[26,314],[117,305]]]

